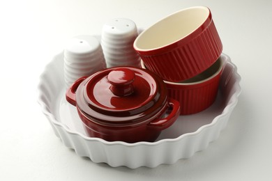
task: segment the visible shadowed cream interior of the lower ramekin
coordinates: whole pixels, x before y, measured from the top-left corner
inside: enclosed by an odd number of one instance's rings
[[[144,65],[144,61],[141,61],[142,68],[146,69],[146,66]],[[216,77],[218,75],[223,67],[222,59],[218,58],[218,60],[211,65],[207,70],[204,72],[197,74],[195,77],[192,77],[190,79],[186,79],[184,81],[180,82],[172,82],[172,81],[165,81],[166,84],[174,84],[174,85],[193,85],[193,84],[201,84],[204,81],[208,81],[210,79],[213,79],[213,77]]]

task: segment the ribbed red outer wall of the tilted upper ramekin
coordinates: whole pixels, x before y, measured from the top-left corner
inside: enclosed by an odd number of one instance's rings
[[[139,53],[146,68],[167,81],[183,81],[209,68],[222,53],[222,42],[211,23],[186,45],[177,46],[161,54]]]

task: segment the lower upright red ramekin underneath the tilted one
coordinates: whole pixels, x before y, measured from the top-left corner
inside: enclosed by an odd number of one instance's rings
[[[181,83],[165,81],[169,97],[183,105],[181,115],[198,113],[213,104],[218,93],[221,74],[222,61],[219,58],[211,68],[197,77]]]

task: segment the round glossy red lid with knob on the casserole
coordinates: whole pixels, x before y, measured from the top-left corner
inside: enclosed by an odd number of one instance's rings
[[[137,120],[164,106],[166,88],[158,79],[141,68],[102,70],[86,79],[81,98],[77,97],[77,106],[86,115],[100,120],[114,121],[112,117],[118,117],[117,122]]]

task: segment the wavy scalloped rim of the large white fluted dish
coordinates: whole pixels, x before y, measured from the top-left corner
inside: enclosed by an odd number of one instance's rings
[[[62,54],[63,54],[63,52],[61,52],[60,54],[57,54],[56,56],[54,56],[52,61],[54,61],[54,59],[61,56]],[[161,140],[155,141],[155,142],[141,141],[141,142],[137,142],[137,143],[126,143],[126,142],[123,142],[123,141],[112,141],[112,142],[110,142],[110,141],[105,141],[105,140],[99,139],[99,138],[91,138],[91,137],[85,136],[84,134],[82,134],[80,132],[73,132],[73,131],[69,130],[68,127],[66,127],[66,125],[63,125],[58,120],[56,120],[53,113],[51,113],[50,110],[47,109],[47,105],[43,100],[43,77],[46,76],[46,74],[47,74],[46,70],[47,70],[47,68],[50,67],[50,63],[52,63],[52,61],[45,67],[44,72],[40,75],[40,83],[38,84],[38,103],[40,104],[40,106],[42,108],[42,111],[45,114],[45,116],[47,116],[48,120],[50,120],[51,123],[54,126],[61,127],[68,134],[75,134],[77,136],[80,136],[85,141],[98,141],[100,143],[103,143],[104,145],[122,145],[122,146],[125,146],[125,147],[137,147],[139,145],[154,146],[154,145],[161,145],[161,144],[164,144],[164,143],[178,142],[178,141],[181,141],[182,139],[185,139],[186,137],[197,136],[198,134],[201,134],[202,132],[204,132],[204,130],[209,129],[209,127],[213,127],[214,125],[216,125],[216,123],[218,123],[218,120],[220,120],[220,118],[223,118],[223,117],[227,116],[228,114],[230,114],[232,112],[232,110],[234,109],[234,107],[236,106],[236,104],[238,102],[238,97],[241,94],[241,86],[239,85],[239,82],[241,81],[241,77],[237,72],[236,65],[234,65],[230,61],[229,56],[227,56],[226,54],[222,54],[222,56],[226,56],[227,57],[227,62],[230,63],[231,65],[233,65],[233,67],[234,67],[234,70],[233,70],[232,74],[235,75],[236,82],[234,83],[233,87],[235,87],[236,91],[232,94],[231,97],[229,97],[229,101],[227,102],[227,106],[225,107],[225,109],[223,109],[222,114],[216,116],[216,118],[213,118],[213,121],[211,123],[209,123],[207,125],[203,125],[202,127],[199,127],[199,129],[197,129],[197,131],[195,131],[195,132],[182,134],[181,136],[176,137],[175,139],[161,139]],[[211,140],[211,141],[213,141],[213,140]],[[211,141],[209,141],[209,142],[211,142]],[[197,151],[195,151],[195,152],[197,152]],[[182,158],[179,158],[179,159],[182,159]],[[106,163],[109,164],[108,162],[106,162]],[[167,163],[162,162],[160,164],[167,164]],[[121,164],[121,165],[109,164],[109,165],[110,166],[128,166],[126,164]],[[139,165],[139,166],[146,166],[146,165]],[[128,167],[129,168],[137,168],[139,166],[128,166]],[[158,165],[156,165],[156,166],[158,166]],[[148,167],[153,167],[153,166],[148,166]]]

